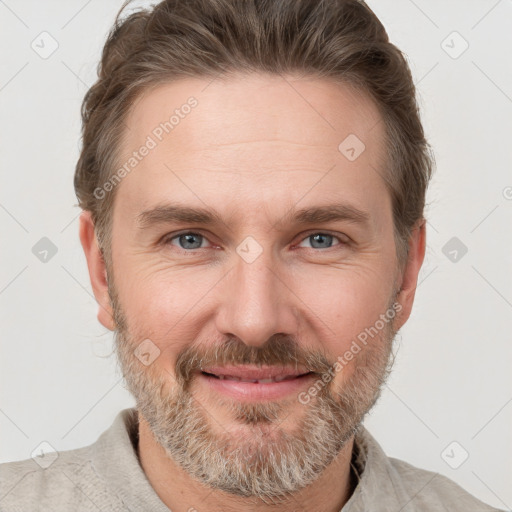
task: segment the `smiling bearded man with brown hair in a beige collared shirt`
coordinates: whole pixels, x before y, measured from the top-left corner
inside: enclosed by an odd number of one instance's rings
[[[80,240],[137,407],[45,469],[3,465],[1,510],[495,510],[362,425],[433,168],[363,2],[118,18],[82,115]]]

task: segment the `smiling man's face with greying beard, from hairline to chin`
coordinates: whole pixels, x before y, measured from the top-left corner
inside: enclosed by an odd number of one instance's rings
[[[156,129],[191,96],[172,131]],[[156,144],[116,190],[119,358],[156,440],[211,487],[308,485],[378,397],[399,327],[377,322],[399,285],[380,121],[347,87],[262,75],[162,85],[127,119],[121,165]],[[306,212],[329,206],[346,215]],[[244,383],[201,371],[228,366],[312,373]]]

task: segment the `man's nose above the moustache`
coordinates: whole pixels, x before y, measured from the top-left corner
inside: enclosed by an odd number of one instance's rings
[[[250,346],[275,334],[296,334],[297,298],[289,286],[265,251],[252,263],[238,258],[219,290],[218,331]]]

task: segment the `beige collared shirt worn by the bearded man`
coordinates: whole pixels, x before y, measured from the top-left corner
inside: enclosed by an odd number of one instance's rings
[[[0,464],[0,511],[169,512],[139,464],[137,438],[137,412],[124,409],[90,446],[43,457],[48,467],[33,459]],[[498,510],[438,473],[388,457],[364,426],[355,446],[359,483],[340,512]]]

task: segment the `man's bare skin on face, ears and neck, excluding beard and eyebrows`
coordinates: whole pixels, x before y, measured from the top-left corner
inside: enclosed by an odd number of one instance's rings
[[[99,321],[115,331],[122,311],[129,343],[149,338],[160,349],[141,372],[168,376],[171,392],[178,356],[190,347],[206,353],[214,343],[222,346],[228,335],[245,347],[262,348],[284,333],[297,340],[301,354],[322,353],[334,362],[386,311],[395,289],[400,290],[401,310],[393,323],[398,331],[413,305],[425,255],[425,223],[413,230],[407,263],[399,270],[391,198],[381,177],[384,123],[373,102],[346,85],[313,78],[253,74],[180,80],[147,91],[134,104],[123,157],[190,96],[197,107],[116,188],[110,290],[89,212],[80,218]],[[338,150],[349,134],[366,147],[355,161]],[[138,226],[141,212],[177,202],[208,206],[224,222]],[[278,224],[298,208],[339,202],[367,212],[368,224]],[[204,235],[201,248],[184,249],[178,238],[161,242],[164,235],[187,232]],[[332,247],[312,245],[309,237],[318,233],[334,235]],[[247,236],[262,248],[251,263],[236,252]],[[390,336],[382,333],[374,344],[384,346]],[[351,377],[358,378],[356,368],[351,362],[335,375],[329,384],[333,396]],[[248,442],[254,427],[238,422],[233,404],[212,397],[199,380],[192,377],[190,386],[211,432],[229,432],[236,439],[244,435]],[[294,425],[307,407],[287,400],[279,409],[279,428],[297,433]],[[174,511],[187,511],[205,499],[211,511],[334,512],[354,490],[353,437],[311,485],[275,504],[202,485],[168,456],[140,414],[139,422],[142,467]]]

